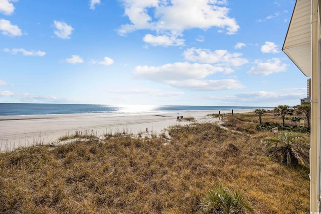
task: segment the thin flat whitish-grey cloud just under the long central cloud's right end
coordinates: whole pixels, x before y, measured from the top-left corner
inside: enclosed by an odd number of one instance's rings
[[[245,88],[239,81],[234,79],[173,81],[170,82],[170,86],[192,91],[218,91]]]

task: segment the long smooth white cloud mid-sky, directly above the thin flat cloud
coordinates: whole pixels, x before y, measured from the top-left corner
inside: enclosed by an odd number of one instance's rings
[[[217,72],[226,72],[223,67],[210,64],[174,63],[159,67],[137,66],[133,74],[142,79],[156,82],[171,82],[173,80],[202,79]]]

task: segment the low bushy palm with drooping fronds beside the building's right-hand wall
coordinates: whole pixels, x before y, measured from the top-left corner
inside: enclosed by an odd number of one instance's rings
[[[303,134],[280,132],[276,137],[268,137],[265,142],[268,155],[274,156],[281,163],[308,165],[310,145]]]

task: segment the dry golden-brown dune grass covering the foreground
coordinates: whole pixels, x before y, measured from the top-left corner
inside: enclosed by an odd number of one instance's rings
[[[0,213],[201,213],[216,184],[239,190],[255,213],[308,213],[308,169],[264,155],[270,132],[255,129],[257,117],[235,114],[226,124],[238,132],[193,124],[170,127],[171,138],[119,135],[2,153]]]

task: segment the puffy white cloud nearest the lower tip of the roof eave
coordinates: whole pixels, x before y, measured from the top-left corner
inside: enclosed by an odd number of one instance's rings
[[[285,72],[288,66],[285,63],[281,63],[281,60],[278,58],[272,58],[266,62],[256,60],[255,64],[256,65],[253,66],[251,70],[247,72],[247,74],[262,74],[267,76],[273,73]]]

